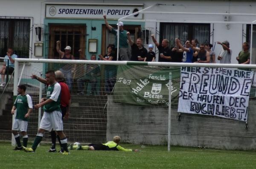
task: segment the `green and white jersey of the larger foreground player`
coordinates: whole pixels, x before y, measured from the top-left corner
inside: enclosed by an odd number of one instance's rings
[[[46,98],[51,99],[53,101],[44,105],[45,112],[61,112],[61,85],[59,83],[55,83],[53,85],[48,86]]]

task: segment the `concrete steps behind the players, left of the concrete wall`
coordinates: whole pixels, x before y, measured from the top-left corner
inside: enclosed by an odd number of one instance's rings
[[[38,103],[38,94],[31,95],[33,104]],[[2,140],[11,140],[13,106],[11,97],[5,105],[3,115],[0,116],[0,137]],[[63,120],[64,133],[69,142],[105,142],[107,130],[107,96],[101,95],[72,95],[70,118]],[[41,113],[43,116],[43,113]],[[38,130],[38,110],[33,110],[28,124],[29,137],[35,137]],[[49,139],[49,135],[45,135]]]

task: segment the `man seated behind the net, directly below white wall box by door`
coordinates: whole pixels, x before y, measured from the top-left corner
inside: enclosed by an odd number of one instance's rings
[[[96,55],[93,54],[91,56],[91,60],[96,60]],[[92,84],[90,95],[96,95],[96,84],[97,84],[97,76],[99,76],[100,68],[99,65],[87,65],[85,70],[85,76],[81,77],[77,80],[78,95],[84,95],[84,83],[90,82]],[[86,92],[86,91],[85,91]]]

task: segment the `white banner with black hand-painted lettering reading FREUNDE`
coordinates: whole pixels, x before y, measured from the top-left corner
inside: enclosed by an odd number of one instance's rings
[[[247,121],[253,72],[181,67],[178,112]]]

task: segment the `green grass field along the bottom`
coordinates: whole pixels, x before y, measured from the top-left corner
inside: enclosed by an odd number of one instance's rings
[[[122,145],[122,144],[121,144]],[[29,145],[28,147],[30,147]],[[0,169],[254,169],[256,152],[190,147],[122,145],[140,152],[71,150],[70,155],[48,153],[49,145],[35,153],[13,151],[0,142]],[[57,147],[58,148],[58,147]]]

